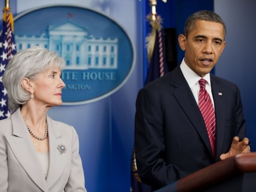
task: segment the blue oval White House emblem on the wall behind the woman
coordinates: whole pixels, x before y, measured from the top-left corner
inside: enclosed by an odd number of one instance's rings
[[[44,6],[14,18],[17,51],[43,46],[66,60],[63,105],[106,98],[129,78],[133,44],[125,30],[106,15],[79,6]]]

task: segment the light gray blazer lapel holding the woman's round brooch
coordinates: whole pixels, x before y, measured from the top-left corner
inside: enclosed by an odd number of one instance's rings
[[[58,181],[66,168],[67,159],[70,157],[69,154],[71,153],[71,140],[62,136],[61,127],[58,127],[48,116],[47,122],[49,131],[50,166],[46,182],[50,189],[54,183]],[[58,149],[59,145],[65,146],[65,153],[60,153]]]

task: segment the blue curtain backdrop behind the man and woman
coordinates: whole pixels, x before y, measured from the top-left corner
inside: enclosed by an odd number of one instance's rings
[[[198,10],[216,9],[217,13],[226,20],[228,29],[227,47],[221,55],[215,74],[237,83],[241,89],[248,137],[252,142],[252,151],[255,151],[256,89],[254,82],[256,82],[256,69],[253,63],[255,39],[250,37],[256,34],[256,26],[250,18],[256,17],[255,11],[252,10],[256,6],[256,2],[233,0],[167,0],[166,4],[161,0],[157,2],[157,12],[164,19],[163,27],[177,28],[177,36],[182,33],[188,15]],[[63,3],[63,1],[11,0],[10,6],[15,16],[33,8],[33,6],[57,3]],[[49,111],[49,115],[53,119],[74,125],[78,132],[88,191],[129,192],[131,186],[131,155],[134,142],[134,105],[137,92],[145,82],[147,71],[145,37],[150,31],[146,21],[146,15],[150,8],[149,1],[66,0],[65,3],[83,4],[83,6],[88,6],[90,9],[103,11],[124,27],[134,44],[135,68],[129,80],[121,89],[94,103],[79,106],[60,106]],[[2,10],[3,7],[4,1],[0,1],[0,9]],[[242,17],[243,19],[240,20],[236,17]],[[0,22],[2,23],[2,20]],[[244,38],[244,31],[249,34],[246,35],[246,38]],[[238,38],[241,41],[237,41]],[[180,62],[183,58],[183,52],[180,51],[180,47],[177,47],[177,50],[178,62]],[[252,90],[249,90],[249,87]],[[253,95],[250,93],[253,93]]]

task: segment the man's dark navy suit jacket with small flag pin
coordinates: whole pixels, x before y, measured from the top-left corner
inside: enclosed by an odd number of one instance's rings
[[[220,160],[246,125],[238,87],[210,75],[216,117],[212,156],[203,117],[180,66],[143,87],[135,114],[135,157],[142,182],[154,190]]]

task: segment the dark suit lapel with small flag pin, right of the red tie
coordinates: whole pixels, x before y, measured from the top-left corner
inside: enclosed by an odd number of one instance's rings
[[[221,155],[221,146],[224,142],[225,116],[226,116],[226,95],[222,95],[222,89],[219,82],[211,75],[212,96],[214,100],[215,118],[216,118],[216,158]]]

